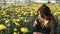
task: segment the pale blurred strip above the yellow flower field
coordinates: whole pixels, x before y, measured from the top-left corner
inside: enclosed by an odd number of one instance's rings
[[[0,0],[0,6],[6,5],[26,5],[31,3],[60,3],[60,0]]]

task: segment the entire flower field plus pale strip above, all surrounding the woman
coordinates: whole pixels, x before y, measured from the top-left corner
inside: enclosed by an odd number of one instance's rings
[[[60,34],[60,0],[0,0],[0,34],[32,34],[37,10],[44,3],[58,22]]]

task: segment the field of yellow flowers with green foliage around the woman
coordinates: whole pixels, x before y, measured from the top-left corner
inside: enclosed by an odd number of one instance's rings
[[[42,4],[10,6],[0,9],[0,34],[32,34],[32,25],[37,10]],[[58,22],[57,34],[60,34],[60,4],[47,4]]]

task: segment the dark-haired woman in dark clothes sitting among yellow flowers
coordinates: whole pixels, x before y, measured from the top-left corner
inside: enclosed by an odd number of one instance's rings
[[[57,34],[56,21],[46,4],[38,9],[38,17],[33,24],[33,34]]]

